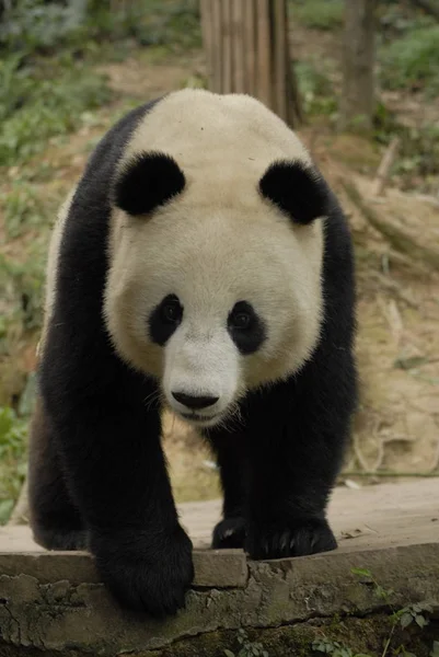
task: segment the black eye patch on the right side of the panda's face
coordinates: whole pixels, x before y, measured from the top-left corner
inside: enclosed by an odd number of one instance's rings
[[[266,337],[264,322],[247,301],[238,301],[233,306],[227,327],[230,337],[243,355],[257,351]]]

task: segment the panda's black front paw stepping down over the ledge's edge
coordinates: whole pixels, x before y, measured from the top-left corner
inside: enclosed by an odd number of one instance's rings
[[[194,578],[192,542],[180,526],[171,533],[139,533],[93,537],[97,569],[120,607],[155,618],[174,615]]]

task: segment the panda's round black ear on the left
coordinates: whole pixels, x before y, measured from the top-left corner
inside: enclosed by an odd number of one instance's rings
[[[183,171],[171,155],[141,152],[119,171],[114,203],[128,215],[148,215],[183,192],[185,183]]]

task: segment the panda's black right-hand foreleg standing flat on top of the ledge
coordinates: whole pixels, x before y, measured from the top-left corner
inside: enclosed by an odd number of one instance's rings
[[[253,558],[337,546],[326,507],[349,435],[356,383],[349,355],[336,357],[333,380],[315,368],[250,400],[245,550]]]

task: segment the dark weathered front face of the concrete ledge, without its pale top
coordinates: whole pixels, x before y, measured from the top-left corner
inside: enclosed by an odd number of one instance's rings
[[[101,584],[67,579],[43,584],[27,574],[1,575],[1,636],[15,646],[115,656],[159,649],[218,630],[276,627],[379,611],[383,601],[367,578],[361,581],[353,575],[353,567],[370,569],[381,586],[393,589],[391,601],[396,608],[407,600],[439,604],[439,544],[435,543],[361,555],[334,552],[250,562],[244,588],[190,590],[186,609],[166,621],[122,613]]]

